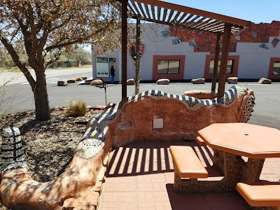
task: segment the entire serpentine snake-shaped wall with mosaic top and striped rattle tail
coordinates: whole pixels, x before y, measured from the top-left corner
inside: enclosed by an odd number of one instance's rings
[[[1,200],[10,208],[95,209],[112,146],[193,139],[198,130],[212,123],[246,123],[253,105],[253,92],[241,86],[232,86],[219,99],[197,99],[160,90],[142,92],[92,116],[69,169],[48,183],[29,176],[20,140],[15,139],[20,137],[18,133],[5,136],[3,132],[6,143],[2,150],[6,151],[1,155]],[[162,128],[153,128],[155,118],[162,119]]]

